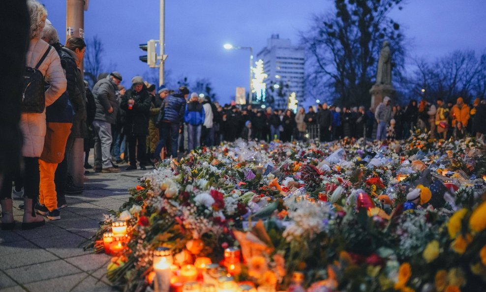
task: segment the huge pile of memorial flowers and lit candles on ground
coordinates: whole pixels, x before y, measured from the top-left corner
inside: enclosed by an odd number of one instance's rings
[[[420,132],[202,147],[141,178],[90,247],[124,291],[484,291],[484,151]]]

